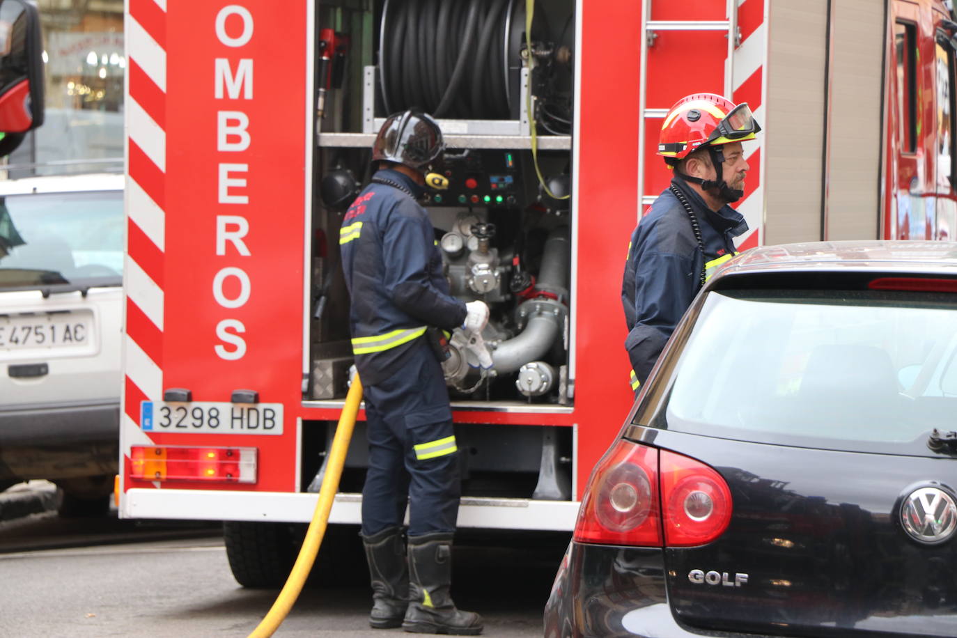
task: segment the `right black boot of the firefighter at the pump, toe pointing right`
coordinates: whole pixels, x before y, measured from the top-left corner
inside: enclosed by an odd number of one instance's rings
[[[402,628],[413,633],[481,633],[481,616],[459,611],[449,595],[452,583],[452,535],[409,538],[409,608]]]

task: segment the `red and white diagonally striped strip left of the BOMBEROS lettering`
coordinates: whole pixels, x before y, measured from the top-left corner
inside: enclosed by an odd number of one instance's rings
[[[163,395],[166,27],[166,0],[127,0],[123,456],[151,443],[140,429],[140,402]]]

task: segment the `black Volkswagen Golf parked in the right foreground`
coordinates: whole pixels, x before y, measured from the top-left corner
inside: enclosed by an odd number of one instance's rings
[[[957,636],[957,244],[756,249],[595,466],[547,636]]]

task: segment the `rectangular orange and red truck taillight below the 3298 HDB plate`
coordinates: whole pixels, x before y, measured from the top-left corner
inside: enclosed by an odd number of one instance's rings
[[[133,446],[130,477],[145,481],[256,483],[256,448]]]

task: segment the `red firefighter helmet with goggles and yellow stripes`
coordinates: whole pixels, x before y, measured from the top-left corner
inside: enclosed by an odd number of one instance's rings
[[[713,93],[695,93],[668,109],[661,124],[657,154],[674,164],[706,144],[753,140],[760,130],[747,102],[735,105]]]

